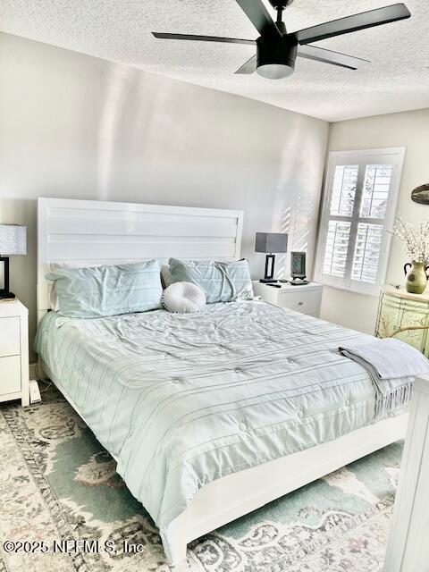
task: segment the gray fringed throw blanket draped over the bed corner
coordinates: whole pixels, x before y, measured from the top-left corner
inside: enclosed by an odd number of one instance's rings
[[[374,338],[365,344],[341,346],[339,350],[371,376],[380,414],[407,404],[415,376],[429,374],[427,357],[409,344],[392,338]]]

